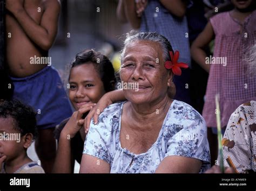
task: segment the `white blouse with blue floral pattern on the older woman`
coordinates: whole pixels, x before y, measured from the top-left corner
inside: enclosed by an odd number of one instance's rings
[[[164,119],[157,141],[141,154],[131,153],[119,142],[120,121],[125,102],[107,107],[99,123],[91,121],[84,154],[110,164],[111,173],[154,173],[165,157],[179,155],[202,161],[200,173],[210,168],[206,124],[190,105],[174,100]]]

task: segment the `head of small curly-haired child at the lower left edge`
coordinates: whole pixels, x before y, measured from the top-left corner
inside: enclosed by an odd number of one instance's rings
[[[17,100],[0,102],[0,157],[5,162],[26,154],[36,135],[36,114]]]

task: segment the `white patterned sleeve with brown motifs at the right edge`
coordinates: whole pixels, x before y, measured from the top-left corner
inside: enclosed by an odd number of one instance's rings
[[[240,106],[231,115],[222,140],[225,167],[234,166],[239,173],[246,173],[246,170],[253,169],[250,138],[246,111]],[[219,161],[220,157],[218,157]]]

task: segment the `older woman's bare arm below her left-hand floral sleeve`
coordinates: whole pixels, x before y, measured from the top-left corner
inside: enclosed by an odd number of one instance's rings
[[[105,160],[83,154],[79,173],[110,173],[110,165]]]

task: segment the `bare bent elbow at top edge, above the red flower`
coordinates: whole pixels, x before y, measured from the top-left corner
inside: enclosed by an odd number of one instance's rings
[[[187,1],[184,0],[159,0],[164,7],[176,17],[184,17],[187,9]]]

